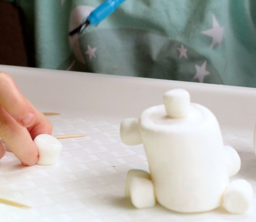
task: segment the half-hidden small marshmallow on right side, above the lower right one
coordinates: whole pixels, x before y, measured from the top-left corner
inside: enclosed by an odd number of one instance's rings
[[[224,146],[226,154],[227,169],[229,176],[237,174],[241,167],[241,159],[236,150],[231,146]]]

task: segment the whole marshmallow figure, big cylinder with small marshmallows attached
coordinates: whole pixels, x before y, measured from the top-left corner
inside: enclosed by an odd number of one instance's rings
[[[236,150],[225,146],[216,117],[190,102],[184,89],[167,91],[164,105],[146,109],[139,120],[122,121],[120,137],[127,145],[143,143],[150,174],[130,170],[125,195],[136,208],[156,201],[177,212],[210,211],[223,205],[244,213],[253,197],[244,179],[229,182],[241,165]]]

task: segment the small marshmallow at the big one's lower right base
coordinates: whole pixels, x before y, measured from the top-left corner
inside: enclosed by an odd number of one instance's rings
[[[253,188],[244,179],[230,182],[224,192],[223,206],[230,213],[244,213],[253,199]]]

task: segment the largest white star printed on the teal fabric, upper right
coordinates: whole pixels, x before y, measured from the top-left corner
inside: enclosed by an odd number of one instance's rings
[[[217,43],[219,46],[221,46],[221,43],[223,41],[223,30],[224,30],[224,27],[221,27],[219,25],[215,15],[212,14],[212,28],[202,31],[202,34],[212,38],[212,44],[210,46],[210,49],[212,49],[212,47],[215,46],[215,44]]]

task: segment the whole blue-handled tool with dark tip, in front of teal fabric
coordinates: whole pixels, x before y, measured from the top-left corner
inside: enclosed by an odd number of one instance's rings
[[[98,25],[102,20],[111,15],[116,10],[116,8],[124,1],[125,0],[106,0],[98,8],[96,8],[89,14],[87,20],[84,23],[75,28],[73,31],[70,31],[69,35],[72,36],[76,33],[80,34],[89,25]]]

